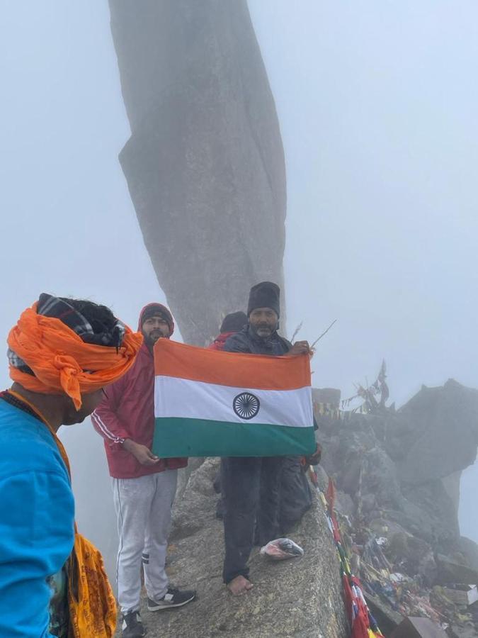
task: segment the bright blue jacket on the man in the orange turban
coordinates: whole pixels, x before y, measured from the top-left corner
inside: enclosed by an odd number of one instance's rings
[[[0,399],[0,637],[50,638],[47,578],[74,543],[69,476],[47,427]]]

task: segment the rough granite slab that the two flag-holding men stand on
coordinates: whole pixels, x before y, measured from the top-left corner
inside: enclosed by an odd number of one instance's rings
[[[254,590],[232,597],[222,583],[222,522],[215,518],[212,481],[217,460],[193,471],[178,502],[169,547],[168,571],[179,587],[198,590],[181,610],[142,617],[151,638],[296,637],[346,638],[338,557],[319,499],[290,537],[305,550],[302,559],[273,563],[251,557]]]

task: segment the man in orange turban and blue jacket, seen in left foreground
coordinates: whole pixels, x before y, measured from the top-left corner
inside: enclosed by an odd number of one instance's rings
[[[135,362],[142,335],[105,306],[40,295],[8,335],[0,393],[0,636],[110,638],[98,550],[76,532],[60,425],[86,418]]]

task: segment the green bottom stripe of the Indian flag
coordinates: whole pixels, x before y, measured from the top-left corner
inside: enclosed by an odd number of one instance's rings
[[[280,457],[315,452],[313,427],[157,418],[153,453],[171,457]]]

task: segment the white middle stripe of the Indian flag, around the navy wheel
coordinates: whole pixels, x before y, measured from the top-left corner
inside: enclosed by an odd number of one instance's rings
[[[250,419],[240,418],[232,407],[234,398],[244,392],[253,394],[260,403],[257,415]],[[254,390],[157,376],[154,383],[154,416],[313,427],[312,389]]]

